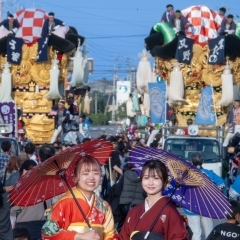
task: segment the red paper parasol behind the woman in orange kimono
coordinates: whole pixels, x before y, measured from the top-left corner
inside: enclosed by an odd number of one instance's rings
[[[75,185],[73,171],[76,162],[90,155],[105,164],[112,153],[112,144],[103,140],[93,140],[57,153],[34,167],[14,185],[9,198],[13,205],[32,206],[62,194]]]

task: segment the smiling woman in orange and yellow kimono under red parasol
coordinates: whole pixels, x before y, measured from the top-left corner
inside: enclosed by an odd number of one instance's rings
[[[109,205],[94,190],[99,186],[101,167],[96,159],[83,157],[75,167],[72,188],[93,230],[84,221],[70,192],[53,206],[42,228],[44,240],[118,240]]]

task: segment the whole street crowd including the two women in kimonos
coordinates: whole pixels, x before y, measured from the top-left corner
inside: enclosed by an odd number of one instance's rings
[[[150,122],[151,119],[148,119],[146,129],[152,126]],[[136,146],[145,146],[150,134],[147,132],[147,137],[143,138],[140,131],[141,126],[135,124],[133,135],[130,134],[130,128],[128,132],[118,132],[116,136],[102,132],[99,138],[113,144],[111,160],[105,166],[100,166],[94,158],[84,157],[76,165],[76,187],[73,190],[86,216],[91,219],[93,231],[90,232],[83,230],[87,225],[69,192],[31,207],[11,206],[8,202],[8,192],[19,178],[66,146],[54,142],[36,147],[28,142],[19,156],[12,156],[11,143],[3,141],[0,154],[0,239],[138,239],[137,236],[147,232],[153,220],[159,218],[157,214],[168,200],[168,197],[162,195],[168,181],[164,164],[159,161],[147,162],[139,178],[129,163],[130,150]],[[158,148],[160,138],[160,135],[156,135],[153,142],[157,145],[151,147]],[[86,141],[91,139],[82,140]],[[240,236],[240,228],[237,226],[240,216],[239,142],[238,136],[230,140],[227,159],[231,168],[229,172],[234,176],[231,179],[228,177],[228,182],[231,181],[229,184],[233,184],[230,188],[233,215],[228,216],[226,223],[214,228],[212,219],[187,209],[184,210],[187,220],[184,219],[170,202],[153,227],[152,234],[158,234],[156,239],[201,240],[204,235],[205,239],[213,240],[217,239],[217,235],[225,237],[223,239],[237,239],[235,236]],[[223,189],[225,180],[213,171],[202,168],[204,159],[200,153],[192,154],[191,161]],[[136,238],[134,232],[139,232]]]

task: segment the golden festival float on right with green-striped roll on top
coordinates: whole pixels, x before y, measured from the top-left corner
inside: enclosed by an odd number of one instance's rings
[[[236,24],[235,34],[219,36],[223,19],[208,7],[189,7],[182,10],[182,15],[192,24],[191,34],[175,34],[168,23],[159,22],[145,39],[146,49],[155,57],[156,73],[167,85],[167,102],[179,126],[186,126],[187,119],[195,120],[206,87],[212,87],[213,92],[211,110],[216,121],[212,125],[223,126],[234,91],[239,90],[240,23]],[[146,58],[148,53],[144,54]],[[146,72],[137,79],[137,88],[149,98],[147,85],[153,79],[149,73],[146,77]]]

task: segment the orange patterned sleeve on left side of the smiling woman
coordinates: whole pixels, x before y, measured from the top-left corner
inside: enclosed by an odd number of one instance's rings
[[[53,217],[54,216],[54,217]],[[66,230],[69,225],[61,203],[57,203],[47,217],[46,223],[42,227],[43,240],[73,240],[76,232]]]

